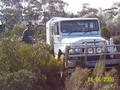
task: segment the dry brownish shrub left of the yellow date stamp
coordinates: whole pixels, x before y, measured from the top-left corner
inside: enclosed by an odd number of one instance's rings
[[[70,78],[66,80],[65,90],[86,90],[86,81],[89,74],[88,69],[76,68]]]

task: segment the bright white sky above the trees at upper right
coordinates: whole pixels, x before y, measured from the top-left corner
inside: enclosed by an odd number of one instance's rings
[[[107,9],[110,8],[114,2],[120,2],[120,0],[63,0],[63,1],[69,4],[66,7],[66,11],[73,13],[77,13],[77,11],[80,11],[83,3],[89,3],[90,7],[93,8]]]

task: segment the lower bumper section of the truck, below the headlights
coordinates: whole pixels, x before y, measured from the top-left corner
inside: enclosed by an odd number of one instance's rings
[[[98,60],[105,60],[105,66],[114,66],[120,64],[120,53],[104,53],[91,55],[69,55],[67,60],[67,67],[76,67],[80,62],[86,67],[95,67]]]

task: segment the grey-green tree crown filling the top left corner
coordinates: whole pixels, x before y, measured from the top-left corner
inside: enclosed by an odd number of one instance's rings
[[[13,26],[20,23],[22,18],[22,6],[20,0],[1,0],[2,19],[6,22],[6,26]]]

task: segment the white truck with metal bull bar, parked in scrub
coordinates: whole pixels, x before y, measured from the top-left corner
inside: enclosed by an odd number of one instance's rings
[[[119,45],[101,36],[98,18],[54,17],[46,23],[46,43],[56,59],[64,56],[65,68],[94,67],[103,56],[106,66],[120,64]]]

